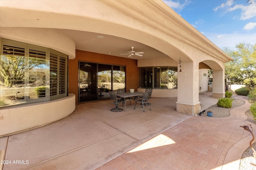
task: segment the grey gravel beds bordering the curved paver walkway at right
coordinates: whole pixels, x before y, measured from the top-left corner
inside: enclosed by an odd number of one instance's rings
[[[231,109],[233,109],[235,107],[242,106],[242,105],[244,105],[244,101],[236,100],[236,98],[234,98],[234,100],[232,101],[232,107],[230,107],[230,108],[218,107],[217,104],[215,104],[215,105],[209,107],[208,109],[206,109],[206,111],[203,114],[201,114],[201,116],[208,117],[207,111],[211,110],[211,111],[213,111],[212,117],[228,117],[228,116],[230,116]],[[247,120],[256,125],[256,120],[255,120],[254,116],[252,115],[252,112],[250,110],[248,110],[248,111],[246,111],[245,114],[248,117]],[[209,117],[209,118],[211,118],[211,117]],[[249,143],[248,143],[248,146],[250,146]],[[255,149],[256,143],[254,143],[252,145],[252,147]],[[239,170],[256,170],[256,159],[254,158],[253,150],[250,147],[248,147],[242,154]]]

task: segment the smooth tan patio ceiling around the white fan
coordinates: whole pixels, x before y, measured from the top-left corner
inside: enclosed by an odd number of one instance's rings
[[[100,34],[100,33],[92,33],[86,31],[77,31],[77,30],[69,30],[69,29],[56,29],[57,31],[67,35],[76,43],[76,49],[82,51],[89,51],[94,53],[112,55],[117,57],[125,57],[132,59],[151,59],[151,58],[166,58],[168,57],[164,53],[144,45],[142,43],[138,43],[136,41],[131,41],[129,39],[124,39],[120,37],[115,37],[112,35]],[[103,36],[103,38],[98,38],[97,36]],[[143,56],[132,55],[120,55],[125,54],[127,51],[132,51],[134,47],[135,52],[144,52]]]

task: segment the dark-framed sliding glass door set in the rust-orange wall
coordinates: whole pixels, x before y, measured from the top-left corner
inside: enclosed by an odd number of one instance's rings
[[[79,102],[110,99],[109,91],[125,89],[125,66],[79,62]]]

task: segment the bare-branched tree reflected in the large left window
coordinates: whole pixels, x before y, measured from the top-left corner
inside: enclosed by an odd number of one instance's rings
[[[1,55],[0,84],[11,88],[13,84],[23,81],[24,75],[32,68],[42,64],[43,59],[24,56]]]

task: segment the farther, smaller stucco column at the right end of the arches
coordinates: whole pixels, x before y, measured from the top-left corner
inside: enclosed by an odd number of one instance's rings
[[[225,97],[225,72],[224,70],[212,70],[212,97]]]

